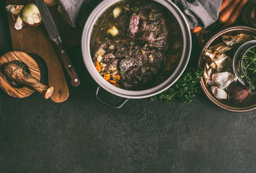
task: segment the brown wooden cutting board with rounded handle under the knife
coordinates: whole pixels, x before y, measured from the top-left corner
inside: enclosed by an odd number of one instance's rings
[[[27,4],[28,2],[33,1],[6,0],[6,4]],[[58,51],[53,46],[44,25],[40,25],[39,27],[25,26],[22,30],[15,30],[15,22],[9,13],[8,19],[13,49],[26,53],[35,53],[43,58],[48,66],[48,83],[54,87],[54,92],[50,99],[53,102],[66,101],[69,97],[69,89],[63,74],[61,61],[58,58]]]

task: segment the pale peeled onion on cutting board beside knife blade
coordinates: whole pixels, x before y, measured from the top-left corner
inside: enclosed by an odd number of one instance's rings
[[[22,11],[22,20],[30,27],[36,27],[42,22],[41,15],[35,4],[27,4]]]

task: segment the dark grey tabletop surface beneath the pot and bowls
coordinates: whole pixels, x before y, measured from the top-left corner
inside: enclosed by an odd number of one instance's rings
[[[0,56],[12,50],[0,2]],[[29,36],[29,35],[28,35]],[[190,66],[195,66],[193,48]],[[0,90],[0,172],[256,172],[256,111],[234,113],[204,94],[191,104],[130,100],[112,110],[96,101],[80,46],[69,56],[81,86],[56,104]],[[104,96],[115,100],[110,95]]]

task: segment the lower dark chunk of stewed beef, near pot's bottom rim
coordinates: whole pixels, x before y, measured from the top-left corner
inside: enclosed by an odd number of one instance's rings
[[[161,50],[146,48],[139,45],[131,46],[128,55],[120,61],[121,85],[125,89],[144,86],[154,79],[164,61]]]

